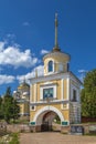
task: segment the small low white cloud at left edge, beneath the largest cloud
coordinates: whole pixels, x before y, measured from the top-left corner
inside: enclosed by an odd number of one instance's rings
[[[0,74],[0,85],[14,82],[15,78],[12,75]]]

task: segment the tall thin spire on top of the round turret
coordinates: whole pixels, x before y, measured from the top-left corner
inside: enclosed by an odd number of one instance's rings
[[[55,47],[53,48],[53,51],[61,51],[57,43],[57,25],[58,25],[57,13],[55,13]]]

